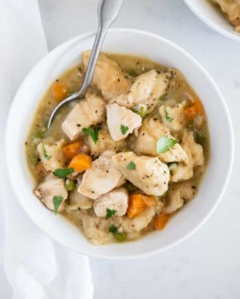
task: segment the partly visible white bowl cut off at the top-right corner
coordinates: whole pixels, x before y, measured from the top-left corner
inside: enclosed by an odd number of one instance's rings
[[[208,0],[184,0],[184,2],[206,25],[220,34],[240,42],[240,33],[235,31],[235,27],[230,24],[224,14],[217,11]]]

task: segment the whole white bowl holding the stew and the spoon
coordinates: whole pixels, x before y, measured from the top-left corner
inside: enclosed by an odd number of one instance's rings
[[[34,223],[53,239],[77,252],[102,258],[136,258],[162,252],[200,228],[213,213],[226,189],[233,159],[230,115],[213,79],[183,49],[148,32],[110,30],[102,51],[146,56],[184,73],[200,96],[208,115],[211,159],[197,197],[171,219],[163,232],[153,232],[130,243],[91,245],[80,230],[47,210],[34,197],[34,181],[27,168],[24,143],[46,89],[62,72],[80,62],[82,52],[92,47],[93,40],[94,34],[85,34],[56,47],[32,69],[19,87],[8,115],[5,133],[5,153],[12,188]]]

